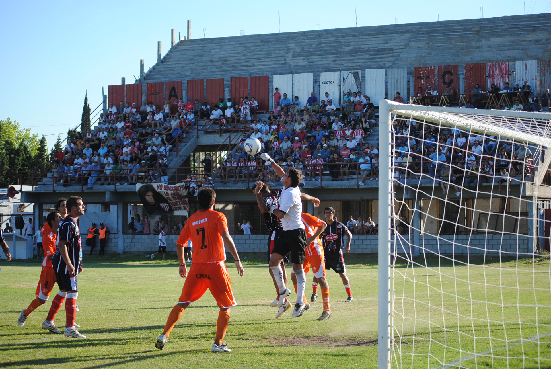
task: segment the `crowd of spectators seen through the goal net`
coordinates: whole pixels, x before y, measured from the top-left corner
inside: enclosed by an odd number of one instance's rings
[[[526,143],[492,135],[439,126],[397,116],[393,125],[394,178],[432,178],[447,196],[462,189],[476,191],[479,184],[501,184],[533,174],[532,153]]]

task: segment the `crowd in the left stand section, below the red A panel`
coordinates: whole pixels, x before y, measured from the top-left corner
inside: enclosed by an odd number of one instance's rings
[[[168,183],[170,152],[192,129],[193,121],[171,115],[170,104],[140,108],[112,103],[93,130],[76,132],[52,154],[55,185]]]

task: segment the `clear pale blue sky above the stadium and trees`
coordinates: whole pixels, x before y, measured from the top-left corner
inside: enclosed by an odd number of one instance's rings
[[[277,2],[282,32],[344,28],[356,22],[354,3],[334,1]],[[160,5],[163,4],[163,5]],[[277,33],[278,9],[271,3],[226,1],[155,3],[136,0],[93,2],[4,2],[0,50],[0,119],[17,120],[33,133],[47,135],[53,146],[69,127],[79,124],[84,94],[90,106],[101,103],[101,87],[133,83],[139,60],[145,70],[156,61],[157,41],[163,54],[170,47],[170,30],[187,32],[191,19],[194,39]],[[228,4],[233,6],[228,7]],[[390,7],[389,7],[390,5]],[[551,0],[463,1],[456,4],[409,1],[356,4],[358,26],[434,22],[452,19],[545,13]],[[391,9],[389,11],[389,9]],[[480,22],[484,22],[481,20]]]

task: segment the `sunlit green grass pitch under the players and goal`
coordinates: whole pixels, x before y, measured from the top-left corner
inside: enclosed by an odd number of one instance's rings
[[[322,311],[321,299],[300,318],[291,318],[289,311],[275,319],[276,308],[268,306],[275,291],[263,259],[249,255],[244,277],[238,277],[233,263],[228,263],[239,304],[231,309],[225,338],[232,349],[229,354],[210,352],[218,308],[209,292],[186,309],[165,349],[155,349],[155,339],[162,333],[183,284],[175,260],[152,261],[138,255],[85,258],[84,271],[79,276],[77,323],[88,336],[86,339],[69,339],[41,329],[50,302],[31,314],[24,327],[18,327],[16,320],[21,309],[34,298],[40,265],[37,260],[3,261],[0,366],[376,368],[376,258],[347,256],[354,301],[344,302],[346,293],[341,279],[329,271],[333,317],[325,322],[316,320]],[[545,361],[540,361],[539,367],[551,367],[551,336],[544,335],[551,332],[551,288],[549,275],[545,274],[549,271],[548,259],[538,260],[535,265],[531,261],[520,263],[519,268],[514,268],[514,261],[498,264],[498,260],[452,268],[451,263],[434,259],[427,265],[430,268],[397,265],[394,287],[398,298],[393,324],[402,338],[396,336],[393,367],[397,363],[408,368],[436,367],[439,363],[442,367],[441,363],[464,359],[471,352],[483,355],[462,361],[462,367],[538,367],[537,361],[522,357],[541,357]],[[499,265],[502,268],[495,268]],[[531,288],[534,271],[541,288],[536,292]],[[530,288],[518,288],[517,275],[519,286]],[[474,283],[484,279],[490,287]],[[311,294],[311,279],[308,281],[307,297]],[[500,284],[505,288],[491,287]],[[466,300],[469,296],[474,303]],[[499,302],[502,297],[503,303]],[[504,307],[519,299],[521,307]],[[538,314],[530,308],[534,301],[540,306]],[[62,308],[56,319],[58,326],[63,325],[64,315]],[[411,319],[414,316],[416,320]],[[508,323],[499,323],[502,318]],[[533,324],[536,319],[539,330]],[[516,337],[526,339],[536,334],[542,335],[539,341],[546,343],[519,340],[515,344]],[[505,336],[513,340],[509,346],[502,341]],[[501,348],[504,345],[506,349]],[[488,350],[498,357],[491,359]],[[509,363],[499,359],[506,354],[521,359]]]

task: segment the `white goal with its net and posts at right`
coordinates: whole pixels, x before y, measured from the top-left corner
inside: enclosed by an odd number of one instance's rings
[[[379,115],[379,367],[551,367],[551,114]]]

